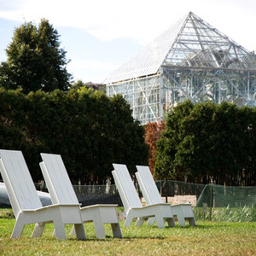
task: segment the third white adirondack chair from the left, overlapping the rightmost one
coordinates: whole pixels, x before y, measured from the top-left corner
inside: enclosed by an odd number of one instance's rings
[[[125,165],[113,164],[113,168],[114,182],[125,207],[126,219],[124,226],[131,226],[133,218],[137,218],[136,225],[141,226],[143,221],[150,217],[156,218],[159,228],[165,228],[166,221],[169,227],[175,225],[171,207],[166,206],[164,203],[143,207],[127,167]]]

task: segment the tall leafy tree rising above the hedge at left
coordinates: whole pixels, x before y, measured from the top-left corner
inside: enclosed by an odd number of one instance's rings
[[[66,51],[61,49],[58,32],[42,19],[38,27],[25,22],[17,27],[8,45],[7,61],[0,66],[0,86],[51,91],[67,90],[71,74],[67,73]]]

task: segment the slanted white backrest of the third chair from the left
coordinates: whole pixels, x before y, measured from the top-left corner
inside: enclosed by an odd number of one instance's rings
[[[114,182],[119,190],[125,211],[133,207],[143,207],[127,167],[125,165],[113,164],[113,168]]]

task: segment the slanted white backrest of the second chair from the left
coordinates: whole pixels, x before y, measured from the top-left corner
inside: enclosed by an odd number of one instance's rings
[[[60,154],[41,153],[44,181],[54,204],[79,204]]]

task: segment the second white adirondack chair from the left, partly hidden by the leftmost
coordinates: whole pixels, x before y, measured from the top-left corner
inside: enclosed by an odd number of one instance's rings
[[[79,204],[73,185],[68,177],[66,167],[60,154],[41,154],[40,163],[45,183],[53,203]],[[84,223],[93,222],[97,238],[105,238],[103,224],[111,224],[113,237],[122,237],[119,218],[116,211],[118,205],[98,204],[89,207],[80,207]],[[74,230],[72,230],[74,232]]]

